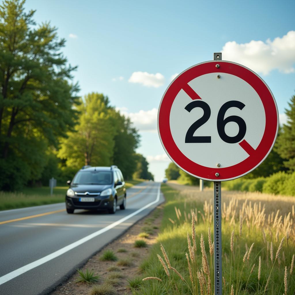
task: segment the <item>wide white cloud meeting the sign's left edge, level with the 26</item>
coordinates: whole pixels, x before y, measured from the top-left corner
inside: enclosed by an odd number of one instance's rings
[[[134,127],[139,131],[158,132],[158,109],[153,108],[148,111],[140,110],[136,113],[129,113],[126,107],[116,108],[116,110],[120,111],[124,116],[129,117]]]

